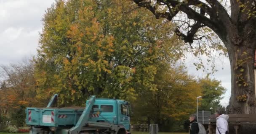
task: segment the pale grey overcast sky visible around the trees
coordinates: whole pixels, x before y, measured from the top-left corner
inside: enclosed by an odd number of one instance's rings
[[[45,10],[54,0],[0,0],[0,64],[19,62],[36,54],[39,32]],[[221,62],[224,61],[224,62]],[[221,104],[227,106],[230,97],[230,66],[227,58],[216,61],[219,72],[211,77],[222,81],[227,93]],[[206,72],[196,71],[192,58],[187,60],[190,74],[203,77]],[[224,70],[221,68],[224,67]]]

